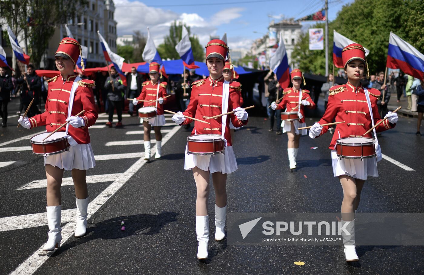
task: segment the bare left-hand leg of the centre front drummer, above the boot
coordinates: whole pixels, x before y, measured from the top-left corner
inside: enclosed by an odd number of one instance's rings
[[[196,216],[208,215],[209,198],[209,171],[199,169],[197,166],[192,169],[193,177],[196,182]]]

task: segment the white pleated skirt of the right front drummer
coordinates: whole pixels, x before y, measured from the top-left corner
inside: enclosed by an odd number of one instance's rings
[[[348,175],[352,178],[366,180],[368,176],[378,177],[377,158],[339,158],[336,150],[331,150],[331,161],[335,177]]]

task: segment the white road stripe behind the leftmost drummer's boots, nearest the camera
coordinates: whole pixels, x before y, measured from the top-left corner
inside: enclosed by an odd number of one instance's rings
[[[77,208],[62,210],[61,222],[76,218]],[[47,214],[36,213],[0,218],[0,232],[47,225]]]

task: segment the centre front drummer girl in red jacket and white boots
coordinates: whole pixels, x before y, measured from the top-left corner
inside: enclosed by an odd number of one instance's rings
[[[195,121],[192,135],[217,134],[225,138],[225,154],[198,156],[185,155],[184,169],[192,170],[197,188],[196,197],[196,234],[198,240],[198,259],[208,257],[209,242],[209,175],[215,189],[215,240],[222,241],[225,238],[224,227],[226,220],[227,175],[237,169],[237,162],[232,149],[230,135],[230,121],[235,127],[241,127],[248,122],[248,114],[240,108],[240,97],[237,89],[240,83],[224,81],[222,71],[225,64],[225,56],[228,47],[225,42],[213,39],[206,45],[206,65],[209,77],[192,83],[190,104],[184,113],[178,112],[173,116],[173,121],[179,125],[191,123],[193,120],[185,118],[194,117],[205,120],[210,124]],[[231,57],[229,56],[231,64]],[[233,114],[208,119],[216,115],[234,111]]]

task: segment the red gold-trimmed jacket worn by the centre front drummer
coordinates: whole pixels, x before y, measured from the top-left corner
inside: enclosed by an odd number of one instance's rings
[[[222,114],[222,89],[223,89],[224,78],[221,77],[217,80],[213,80],[210,76],[206,79],[201,79],[192,83],[190,103],[187,110],[183,112],[188,117],[194,117],[197,119],[205,120],[206,118],[213,117]],[[239,82],[230,81],[228,109],[224,111],[231,112],[233,109],[240,107],[240,96],[241,85]],[[194,121],[194,129],[192,135],[214,133],[222,134],[221,118],[208,119],[206,124],[203,122]],[[191,123],[192,119],[186,119],[181,125]],[[238,119],[234,114],[227,115],[227,121],[225,125],[224,138],[227,140],[227,145],[231,146],[231,134],[230,134],[230,121],[235,127],[241,127],[246,125],[248,119],[242,121]]]

